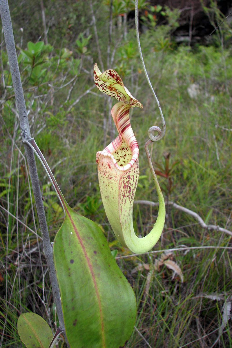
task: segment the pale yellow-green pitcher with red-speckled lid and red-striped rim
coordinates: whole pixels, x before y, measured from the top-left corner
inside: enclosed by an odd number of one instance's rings
[[[123,85],[119,74],[108,69],[101,73],[94,65],[94,81],[101,92],[116,98],[119,102],[111,110],[118,130],[118,136],[102,151],[96,154],[98,180],[107,218],[119,242],[134,253],[149,251],[161,236],[165,223],[165,202],[153,171],[153,179],[159,199],[159,212],[154,227],[143,238],[136,236],[133,228],[133,204],[139,176],[139,147],[130,125],[129,110],[142,104]],[[147,145],[146,152],[150,159]]]

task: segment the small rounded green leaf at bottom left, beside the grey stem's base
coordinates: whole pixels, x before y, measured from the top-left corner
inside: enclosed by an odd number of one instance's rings
[[[23,313],[18,318],[18,333],[27,348],[48,348],[53,334],[38,314]]]

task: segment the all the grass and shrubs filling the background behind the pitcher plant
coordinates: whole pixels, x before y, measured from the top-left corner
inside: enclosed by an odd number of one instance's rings
[[[205,10],[217,26],[221,15],[211,5]],[[182,273],[162,262],[154,268],[161,252],[130,256],[114,239],[101,203],[95,155],[117,133],[112,100],[94,86],[95,62],[102,70],[117,70],[143,104],[143,110],[131,112],[141,149],[136,199],[156,201],[143,144],[149,127],[159,124],[159,113],[139,61],[134,2],[70,0],[64,6],[59,0],[9,1],[9,7],[31,133],[70,206],[101,226],[135,291],[136,329],[126,347],[213,347],[214,342],[214,347],[231,347],[231,312],[224,316],[232,301],[231,236],[202,229],[193,217],[169,206],[154,250],[197,248],[169,253]],[[143,0],[139,9],[144,60],[166,119],[166,135],[151,149],[165,198],[197,212],[208,224],[232,230],[231,26],[223,22],[208,45],[177,46],[171,34],[178,11],[151,8]],[[158,14],[166,18],[165,25],[157,26]],[[53,332],[58,323],[3,34],[1,42],[1,346],[23,347],[17,334],[20,313],[41,315]],[[62,208],[40,163],[38,171],[53,240]],[[135,205],[138,235],[150,231],[157,212]]]

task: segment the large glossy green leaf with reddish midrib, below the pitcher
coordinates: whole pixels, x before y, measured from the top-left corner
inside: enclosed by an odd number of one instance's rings
[[[123,347],[133,330],[136,300],[96,223],[65,204],[54,262],[71,348]]]

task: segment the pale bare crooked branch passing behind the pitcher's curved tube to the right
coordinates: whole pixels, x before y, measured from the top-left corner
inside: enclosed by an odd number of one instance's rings
[[[135,200],[134,201],[134,204],[146,204],[146,205],[151,205],[151,206],[158,206],[159,205],[159,202],[152,202],[152,201],[149,201],[149,200]],[[219,227],[219,226],[216,226],[216,225],[207,225],[202,219],[201,217],[193,212],[192,210],[190,209],[187,209],[185,207],[182,207],[181,205],[178,205],[172,201],[169,201],[168,202],[169,205],[172,205],[174,208],[178,209],[178,210],[181,210],[182,212],[186,213],[186,214],[189,214],[193,217],[195,217],[196,220],[198,220],[199,224],[201,225],[202,228],[205,228],[207,230],[216,230],[216,231],[220,231],[220,232],[225,232],[226,234],[232,236],[232,232],[225,229],[225,228],[222,228],[222,227]]]

